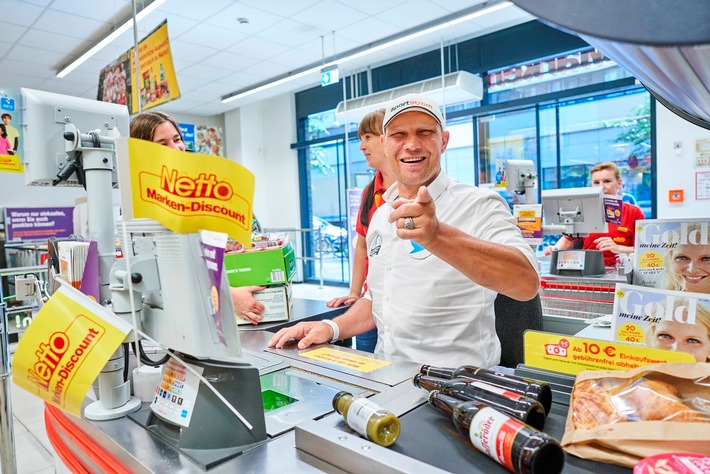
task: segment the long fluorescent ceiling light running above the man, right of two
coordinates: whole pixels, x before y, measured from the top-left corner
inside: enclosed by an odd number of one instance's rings
[[[268,81],[264,84],[257,85],[254,88],[247,89],[241,92],[235,92],[232,95],[228,95],[225,97],[222,97],[222,103],[227,104],[229,102],[238,100],[238,99],[243,99],[244,97],[248,97],[252,94],[256,94],[257,92],[262,92],[267,89],[271,89],[272,87],[276,87],[281,84],[285,84],[289,81],[293,81],[295,79],[307,76],[309,74],[313,74],[316,72],[320,72],[321,69],[327,68],[329,66],[338,66],[340,64],[346,63],[348,61],[353,61],[355,59],[361,58],[363,56],[367,56],[368,54],[372,54],[377,51],[382,51],[383,49],[391,48],[392,46],[406,43],[407,41],[411,41],[415,38],[419,38],[421,36],[425,36],[431,33],[434,33],[435,31],[443,30],[444,28],[448,28],[449,26],[452,25],[457,25],[459,23],[463,23],[464,21],[469,21],[474,18],[487,15],[489,13],[493,13],[498,10],[502,10],[504,8],[510,7],[513,4],[509,1],[502,1],[498,3],[493,3],[492,5],[487,5],[485,7],[474,7],[474,11],[471,11],[471,9],[467,10],[470,11],[470,13],[466,13],[462,16],[459,17],[454,17],[450,19],[446,19],[442,21],[441,23],[436,23],[436,24],[429,24],[429,26],[424,27],[421,30],[416,30],[411,33],[404,33],[401,36],[395,36],[395,37],[390,37],[391,39],[385,39],[382,40],[381,42],[375,42],[373,46],[370,46],[365,49],[356,49],[352,50],[351,52],[345,53],[344,55],[334,58],[331,61],[328,61],[326,63],[322,64],[317,64],[317,65],[312,65],[312,66],[306,66],[305,69],[303,70],[297,70],[293,74],[281,77],[279,79],[271,80]]]

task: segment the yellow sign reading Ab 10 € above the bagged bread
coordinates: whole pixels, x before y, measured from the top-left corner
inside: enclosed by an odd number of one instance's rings
[[[685,352],[620,342],[525,331],[525,365],[577,375],[583,370],[629,370],[663,362],[695,362]]]

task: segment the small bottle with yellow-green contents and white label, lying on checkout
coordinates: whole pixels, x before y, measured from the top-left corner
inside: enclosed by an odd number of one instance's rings
[[[373,443],[391,446],[399,437],[399,418],[367,398],[355,398],[351,393],[338,392],[333,408],[345,422]]]

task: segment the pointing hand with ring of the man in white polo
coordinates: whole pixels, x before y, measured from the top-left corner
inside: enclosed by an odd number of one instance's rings
[[[426,247],[439,231],[434,199],[426,186],[419,188],[417,197],[413,200],[397,198],[392,203],[392,208],[394,211],[390,214],[389,221],[396,223],[397,236],[400,239],[414,240]],[[414,229],[405,229],[404,223],[407,217],[413,219]]]

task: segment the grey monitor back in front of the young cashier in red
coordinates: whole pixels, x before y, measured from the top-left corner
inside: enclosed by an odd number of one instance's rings
[[[545,224],[564,226],[564,233],[567,234],[607,232],[604,189],[594,187],[542,191],[542,216]]]

